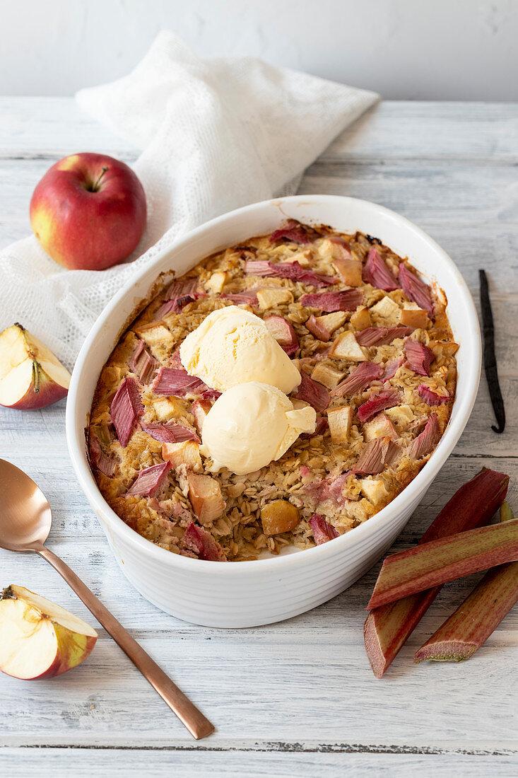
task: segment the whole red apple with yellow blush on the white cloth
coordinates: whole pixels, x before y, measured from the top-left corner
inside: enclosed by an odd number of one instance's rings
[[[65,156],[30,200],[41,246],[69,270],[104,270],[126,259],[142,237],[145,192],[133,170],[105,154]]]

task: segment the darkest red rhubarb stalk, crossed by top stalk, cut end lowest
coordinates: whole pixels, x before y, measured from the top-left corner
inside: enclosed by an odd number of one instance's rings
[[[508,484],[508,475],[483,468],[455,492],[419,542],[487,524],[505,499]],[[440,586],[433,587],[369,613],[363,637],[376,678],[381,678],[390,667],[440,590]]]

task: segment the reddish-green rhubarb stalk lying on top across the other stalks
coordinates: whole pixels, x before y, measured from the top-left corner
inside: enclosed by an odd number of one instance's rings
[[[518,519],[477,527],[387,556],[368,610],[446,581],[518,561]]]

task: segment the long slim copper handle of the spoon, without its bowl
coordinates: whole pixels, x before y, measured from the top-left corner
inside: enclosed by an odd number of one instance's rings
[[[83,584],[79,576],[76,576],[74,571],[68,567],[54,552],[49,548],[42,546],[35,549],[40,556],[47,559],[54,569],[58,570],[58,573],[65,579],[69,587],[75,591],[75,594],[84,602],[86,608],[96,617],[97,621],[102,624],[107,633],[109,633],[115,643],[117,643],[124,651],[127,657],[131,659],[135,667],[141,671],[144,678],[147,678],[153,689],[159,693],[165,703],[170,706],[173,713],[176,713],[182,724],[187,727],[191,734],[197,740],[199,738],[206,738],[208,734],[214,731],[214,726],[211,722],[205,718],[203,713],[188,699],[184,692],[178,689],[168,675],[159,668],[158,664],[152,660],[149,654],[146,654],[145,650],[138,645],[136,640],[133,640],[131,635],[126,632],[120,622],[117,622],[114,615],[104,607],[102,602],[98,600],[92,591]]]

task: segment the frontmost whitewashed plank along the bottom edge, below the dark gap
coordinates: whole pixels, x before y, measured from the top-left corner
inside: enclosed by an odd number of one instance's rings
[[[128,766],[138,776],[201,776],[217,774],[221,778],[247,776],[357,776],[431,775],[450,778],[452,773],[470,778],[509,778],[516,774],[516,755],[465,754],[359,754],[355,752],[217,752],[152,751],[83,748],[5,748],[0,751],[0,767],[6,776],[21,774],[38,778],[60,778],[74,774],[126,778]]]

